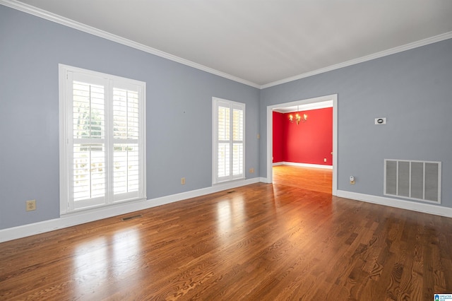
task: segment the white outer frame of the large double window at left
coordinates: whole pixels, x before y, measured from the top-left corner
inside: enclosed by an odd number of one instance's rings
[[[140,170],[140,184],[138,189],[138,198],[133,197],[132,199],[121,199],[121,201],[116,201],[114,199],[114,195],[112,194],[109,198],[105,198],[105,201],[102,203],[95,204],[94,206],[87,206],[85,208],[74,208],[73,202],[69,201],[69,177],[70,177],[70,167],[69,167],[69,129],[71,128],[71,124],[69,124],[69,103],[66,102],[66,97],[71,95],[71,87],[66,85],[66,76],[69,73],[78,73],[78,75],[85,75],[90,77],[97,77],[100,81],[105,81],[107,87],[112,85],[114,81],[119,81],[121,84],[119,88],[124,88],[124,85],[138,85],[141,89],[141,112],[139,116],[138,122],[138,131],[141,133],[139,138],[139,142],[141,144],[141,152],[139,154],[139,161],[141,163]],[[115,84],[116,85],[116,84]],[[145,100],[146,100],[146,85],[143,81],[136,81],[130,78],[122,78],[119,76],[112,76],[106,73],[100,73],[96,71],[90,71],[87,69],[81,69],[73,66],[67,66],[64,64],[59,64],[59,187],[60,187],[60,214],[64,215],[66,213],[74,213],[76,211],[84,211],[89,210],[95,207],[103,207],[103,206],[111,206],[113,203],[125,202],[125,201],[137,201],[137,200],[145,200],[146,198],[146,133],[145,133]],[[106,91],[106,98],[109,98],[109,91]],[[106,110],[112,110],[109,105],[106,105]],[[105,136],[105,146],[109,146],[113,142],[110,141],[107,135]],[[112,179],[108,179],[109,184],[111,184]]]

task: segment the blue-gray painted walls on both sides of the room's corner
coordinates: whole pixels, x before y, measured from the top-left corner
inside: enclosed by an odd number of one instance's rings
[[[451,53],[446,40],[259,91],[0,6],[0,229],[59,217],[59,63],[146,82],[148,199],[211,186],[213,96],[246,103],[251,178],[266,177],[266,106],[338,93],[338,189],[383,196],[384,158],[435,160],[452,208]]]

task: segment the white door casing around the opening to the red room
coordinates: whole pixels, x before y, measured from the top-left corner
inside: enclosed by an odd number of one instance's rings
[[[333,196],[338,193],[338,95],[326,95],[318,98],[297,100],[267,107],[267,177],[266,183],[273,182],[273,109],[277,107],[290,107],[293,105],[307,105],[314,102],[333,101]]]

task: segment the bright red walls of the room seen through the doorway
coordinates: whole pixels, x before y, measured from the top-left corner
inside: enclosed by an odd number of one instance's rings
[[[333,108],[300,111],[307,114],[307,122],[289,122],[289,115],[275,118],[273,112],[273,162],[333,165]],[[277,119],[275,121],[275,119]],[[275,127],[275,124],[277,126]],[[276,129],[276,131],[275,131]],[[279,136],[281,137],[276,137]],[[278,157],[275,156],[275,151]],[[282,151],[282,156],[280,155]],[[326,162],[323,159],[326,158]]]

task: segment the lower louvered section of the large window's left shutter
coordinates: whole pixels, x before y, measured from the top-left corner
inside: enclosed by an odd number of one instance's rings
[[[105,196],[105,147],[103,144],[73,145],[73,199]]]

